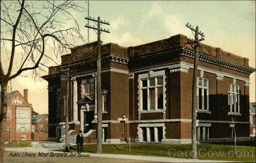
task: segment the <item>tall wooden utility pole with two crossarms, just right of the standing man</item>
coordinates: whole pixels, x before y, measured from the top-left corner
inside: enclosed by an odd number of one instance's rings
[[[97,30],[97,35],[98,35],[98,57],[97,57],[97,101],[98,101],[98,121],[97,121],[97,153],[101,154],[102,153],[102,89],[101,89],[101,40],[100,40],[100,34],[102,32],[107,32],[110,33],[109,31],[106,31],[105,29],[101,29],[100,25],[101,24],[106,24],[109,25],[109,23],[104,22],[98,17],[98,20],[94,20],[89,18],[89,17],[85,17],[86,20],[91,20],[94,22],[97,22],[97,28],[91,27],[91,26],[85,26],[87,28],[90,29],[94,29]]]

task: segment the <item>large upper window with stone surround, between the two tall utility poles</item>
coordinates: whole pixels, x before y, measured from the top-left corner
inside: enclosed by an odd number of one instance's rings
[[[163,77],[141,80],[142,110],[163,109]]]

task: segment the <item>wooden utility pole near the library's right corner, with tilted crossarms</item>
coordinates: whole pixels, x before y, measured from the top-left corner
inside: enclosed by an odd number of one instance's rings
[[[189,25],[189,23],[186,24],[186,27],[188,27],[189,29],[195,32],[195,40],[190,42],[190,43],[194,43],[194,50],[195,50],[195,59],[194,59],[194,70],[193,70],[193,84],[192,84],[192,152],[194,153],[194,155],[192,156],[192,159],[196,159],[197,158],[197,142],[196,142],[196,117],[197,117],[197,113],[196,113],[196,86],[197,86],[197,69],[198,69],[198,45],[199,42],[204,40],[204,33],[201,33],[201,31],[198,31],[198,26],[196,26],[196,28],[194,29],[193,27],[191,27],[191,25]],[[200,34],[202,36],[201,39],[198,39],[198,34]],[[187,43],[187,44],[190,44]]]

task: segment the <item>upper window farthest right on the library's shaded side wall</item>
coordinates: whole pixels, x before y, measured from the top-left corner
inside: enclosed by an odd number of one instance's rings
[[[229,84],[228,85],[228,105],[230,106],[230,113],[240,113],[239,107],[240,87]]]

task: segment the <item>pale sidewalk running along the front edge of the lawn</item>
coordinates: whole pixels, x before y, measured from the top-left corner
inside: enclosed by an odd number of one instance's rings
[[[5,148],[5,151],[12,152],[53,152],[53,153],[63,153],[58,151],[52,151],[47,148],[39,148],[39,147],[22,147],[22,148]],[[74,152],[66,152],[66,153],[74,153]],[[87,154],[85,152],[81,154]],[[125,154],[96,154],[89,153],[91,157],[108,157],[108,158],[121,158],[121,159],[133,159],[133,160],[148,160],[148,161],[156,161],[156,162],[172,162],[172,163],[227,163],[230,161],[219,161],[219,160],[192,160],[192,159],[184,159],[184,158],[171,158],[171,157],[157,157],[157,156],[139,156],[139,155],[125,155]],[[102,158],[103,159],[103,158]],[[104,162],[104,161],[103,161]]]

